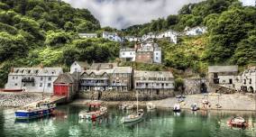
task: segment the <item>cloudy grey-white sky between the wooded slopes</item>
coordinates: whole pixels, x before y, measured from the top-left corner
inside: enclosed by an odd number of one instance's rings
[[[202,0],[63,0],[76,8],[87,8],[103,27],[123,29],[134,24],[178,14],[189,3]]]

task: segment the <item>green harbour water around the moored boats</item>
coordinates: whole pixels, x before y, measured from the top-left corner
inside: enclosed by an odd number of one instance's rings
[[[123,115],[130,112],[109,107],[109,112],[96,121],[80,120],[81,105],[60,105],[56,114],[29,121],[17,121],[14,109],[0,108],[0,137],[255,137],[255,112],[182,111],[170,109],[145,111],[139,123],[122,124]],[[146,109],[144,109],[146,110]],[[250,124],[246,129],[231,128],[226,121],[242,115]]]

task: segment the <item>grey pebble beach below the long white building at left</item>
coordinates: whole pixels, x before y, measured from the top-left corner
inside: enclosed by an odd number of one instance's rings
[[[44,96],[45,97],[45,96]],[[0,92],[0,106],[19,107],[40,101],[41,94],[35,93],[4,93]]]

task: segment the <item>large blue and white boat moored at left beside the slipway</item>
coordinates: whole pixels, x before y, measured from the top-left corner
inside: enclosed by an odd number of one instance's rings
[[[17,119],[31,119],[50,115],[55,110],[56,105],[49,102],[39,102],[34,105],[23,106],[15,111]]]

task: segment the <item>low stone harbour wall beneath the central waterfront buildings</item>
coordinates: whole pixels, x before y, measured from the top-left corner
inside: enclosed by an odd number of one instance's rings
[[[147,100],[160,100],[165,99],[168,97],[174,96],[173,91],[165,91],[160,92],[159,95],[153,94],[151,96],[151,92],[138,92],[139,100],[140,101],[147,101]],[[82,99],[92,99],[92,100],[104,100],[104,101],[135,101],[136,92],[129,91],[129,92],[118,92],[118,91],[90,91],[90,92],[79,92],[78,98]]]

